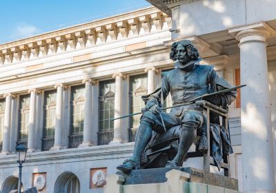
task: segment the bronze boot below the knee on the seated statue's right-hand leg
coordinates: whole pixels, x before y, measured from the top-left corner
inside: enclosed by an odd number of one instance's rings
[[[168,161],[166,167],[179,167],[182,166],[184,158],[193,144],[197,136],[197,130],[195,127],[181,126],[179,134],[179,148],[177,155],[172,161]]]

